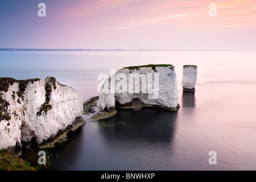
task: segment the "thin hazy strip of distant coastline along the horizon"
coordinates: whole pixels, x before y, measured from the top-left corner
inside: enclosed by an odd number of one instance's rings
[[[256,51],[239,49],[36,49],[36,48],[0,48],[0,51]]]

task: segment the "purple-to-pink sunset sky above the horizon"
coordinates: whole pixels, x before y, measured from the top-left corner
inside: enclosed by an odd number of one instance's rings
[[[256,1],[1,0],[0,48],[256,50]]]

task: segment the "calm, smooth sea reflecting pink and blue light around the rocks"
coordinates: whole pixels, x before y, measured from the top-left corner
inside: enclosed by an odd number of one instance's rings
[[[49,170],[256,170],[256,51],[0,52],[0,77],[46,78],[98,96],[100,73],[131,65],[175,66],[180,109],[120,109],[46,150]],[[182,67],[198,67],[196,92],[183,92]],[[209,164],[210,151],[217,164]],[[22,157],[36,161],[36,148]]]

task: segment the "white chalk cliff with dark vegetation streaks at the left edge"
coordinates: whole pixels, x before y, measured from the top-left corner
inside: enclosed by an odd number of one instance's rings
[[[82,98],[55,78],[0,78],[0,148],[52,147],[67,131],[84,124]]]

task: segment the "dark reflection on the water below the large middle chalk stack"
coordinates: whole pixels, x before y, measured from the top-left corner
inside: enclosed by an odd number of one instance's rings
[[[118,113],[98,122],[106,142],[170,143],[175,132],[177,113],[169,110],[138,107],[118,109]]]

